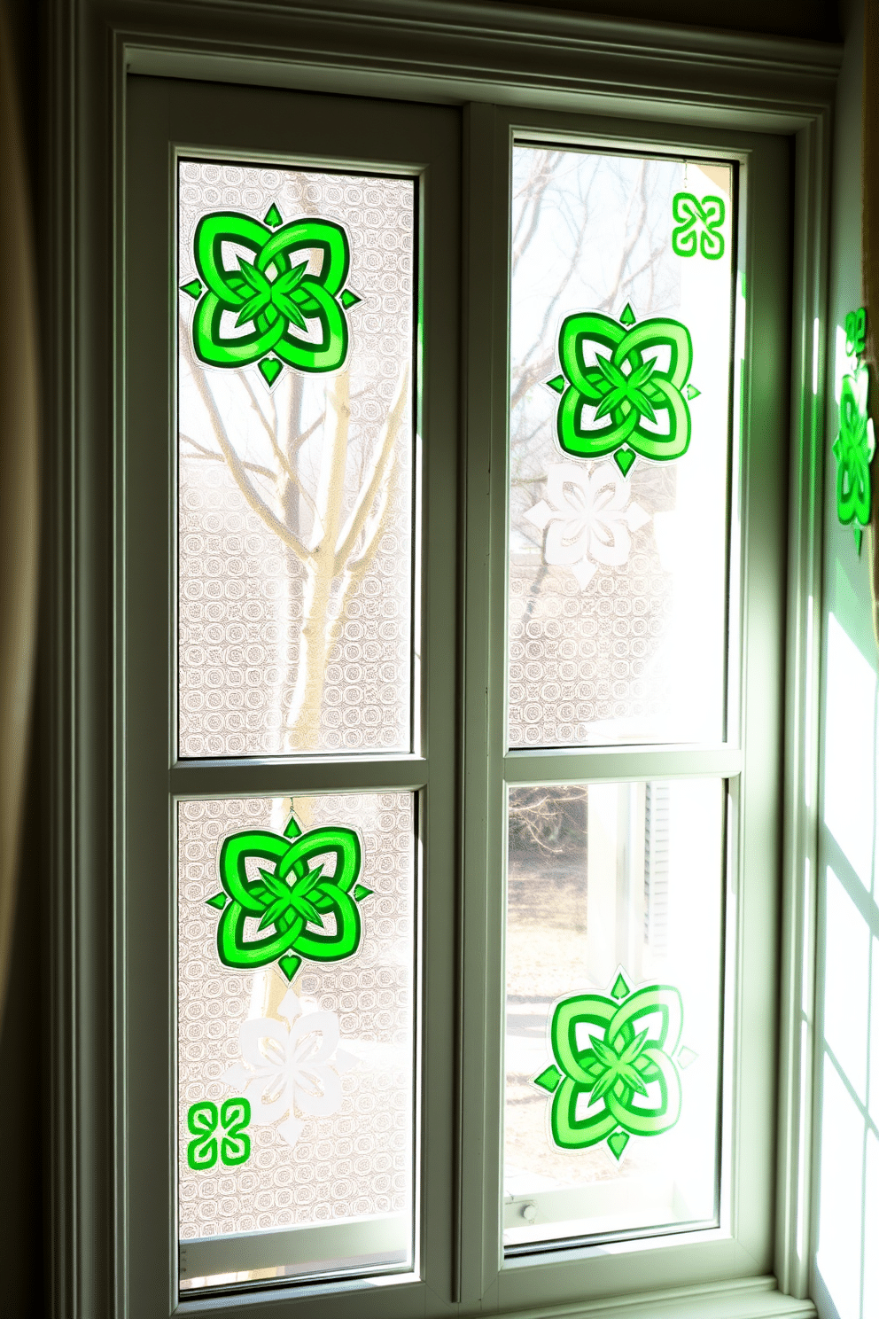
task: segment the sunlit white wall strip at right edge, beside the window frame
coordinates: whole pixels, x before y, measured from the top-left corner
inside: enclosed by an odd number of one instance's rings
[[[830,202],[813,1294],[822,1319],[879,1319],[879,657],[867,537],[858,555],[851,529],[837,520],[830,452],[845,369],[839,331],[862,301],[862,0],[842,5],[842,21]]]

